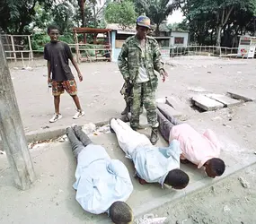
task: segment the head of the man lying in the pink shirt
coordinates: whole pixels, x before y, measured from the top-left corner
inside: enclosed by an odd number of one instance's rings
[[[213,158],[205,163],[208,177],[220,177],[225,172],[225,162],[222,159]]]

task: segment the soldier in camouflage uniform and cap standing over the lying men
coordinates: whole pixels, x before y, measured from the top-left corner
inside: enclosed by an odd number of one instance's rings
[[[160,73],[163,82],[167,73],[163,70],[157,41],[146,36],[149,29],[151,29],[149,18],[139,16],[137,18],[137,34],[128,38],[123,44],[118,63],[125,82],[132,86],[130,125],[137,130],[142,101],[146,108],[147,121],[152,126],[150,141],[155,144],[158,141],[159,124],[155,105],[158,78],[154,70]]]

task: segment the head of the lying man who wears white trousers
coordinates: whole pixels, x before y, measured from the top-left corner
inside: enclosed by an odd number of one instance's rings
[[[172,169],[164,180],[164,184],[171,185],[172,188],[177,190],[185,188],[189,182],[190,177],[179,168]]]

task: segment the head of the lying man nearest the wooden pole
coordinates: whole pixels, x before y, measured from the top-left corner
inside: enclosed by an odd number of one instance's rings
[[[133,221],[133,213],[126,202],[114,202],[110,206],[110,219],[115,224],[129,224]]]

